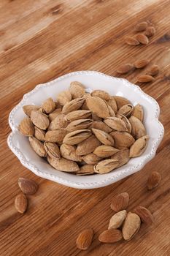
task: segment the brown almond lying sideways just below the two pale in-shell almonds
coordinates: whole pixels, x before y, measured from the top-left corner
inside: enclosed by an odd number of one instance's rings
[[[104,230],[104,232],[102,232],[100,234],[100,236],[98,236],[98,240],[101,243],[107,243],[107,244],[113,244],[117,241],[122,240],[123,236],[122,236],[122,232],[120,230]]]

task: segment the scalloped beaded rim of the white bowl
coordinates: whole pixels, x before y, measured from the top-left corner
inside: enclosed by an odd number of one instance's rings
[[[57,82],[58,80],[63,80],[64,78],[72,77],[75,75],[99,75],[99,76],[102,76],[109,80],[119,80],[122,83],[124,83],[125,86],[134,87],[135,91],[139,91],[140,94],[143,94],[143,96],[145,98],[150,99],[152,101],[152,104],[155,105],[154,121],[157,122],[158,129],[159,129],[158,137],[155,138],[154,143],[152,143],[152,148],[150,150],[150,154],[147,154],[147,156],[144,157],[144,159],[141,162],[139,162],[137,165],[133,165],[132,167],[128,167],[128,168],[127,167],[125,168],[125,165],[124,165],[123,166],[124,170],[121,170],[120,172],[118,172],[116,176],[114,175],[114,171],[112,171],[111,173],[109,173],[110,174],[109,178],[104,178],[104,175],[98,174],[99,176],[101,176],[101,181],[92,181],[92,182],[84,181],[83,182],[83,178],[85,176],[81,176],[81,180],[82,180],[81,182],[70,181],[69,178],[61,178],[57,174],[51,174],[51,173],[45,172],[44,170],[43,171],[39,170],[39,167],[37,167],[36,165],[34,165],[30,161],[28,161],[26,159],[26,157],[23,155],[22,151],[20,151],[20,149],[18,149],[14,145],[14,143],[12,142],[12,138],[18,132],[18,126],[15,124],[14,115],[15,115],[15,112],[18,110],[18,108],[22,108],[22,106],[24,105],[24,102],[26,102],[26,99],[28,99],[31,96],[31,94],[34,94],[36,91],[41,91],[41,89],[43,87],[50,86],[53,83]],[[42,178],[47,178],[51,181],[58,182],[59,184],[63,184],[68,187],[74,187],[74,188],[78,188],[78,189],[93,189],[93,188],[98,188],[98,187],[105,187],[109,184],[119,181],[122,178],[125,178],[126,176],[130,176],[132,173],[136,173],[137,171],[141,170],[142,167],[144,167],[144,165],[147,164],[147,162],[149,162],[153,157],[155,157],[155,152],[158,148],[158,145],[161,143],[161,140],[163,139],[163,134],[164,134],[163,125],[161,124],[160,121],[158,121],[159,113],[160,113],[160,108],[159,108],[158,102],[156,102],[156,100],[153,99],[152,97],[150,97],[148,94],[145,94],[144,91],[142,91],[142,89],[139,88],[139,86],[136,86],[133,83],[130,83],[128,80],[126,80],[124,78],[115,78],[110,75],[105,75],[105,74],[103,74],[101,72],[97,72],[97,71],[71,72],[69,74],[62,75],[61,77],[56,78],[55,80],[52,80],[50,82],[39,84],[32,91],[28,92],[27,94],[25,94],[23,96],[23,99],[9,113],[9,126],[11,127],[12,132],[9,134],[9,136],[7,138],[7,143],[8,143],[9,148],[11,149],[11,151],[15,154],[16,157],[18,157],[21,164],[23,166],[25,166],[26,168],[28,168],[29,170],[31,170],[37,176],[40,176]],[[119,169],[117,169],[117,170],[119,170]]]

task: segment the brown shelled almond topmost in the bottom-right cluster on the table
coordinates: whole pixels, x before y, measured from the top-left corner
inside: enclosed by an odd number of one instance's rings
[[[129,196],[127,192],[120,193],[115,195],[112,198],[111,208],[113,211],[122,211],[128,207]]]

